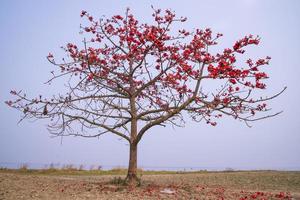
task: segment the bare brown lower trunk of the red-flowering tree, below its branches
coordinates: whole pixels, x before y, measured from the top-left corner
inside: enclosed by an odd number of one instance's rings
[[[129,165],[126,181],[129,185],[135,186],[138,183],[137,177],[137,144],[130,144]]]

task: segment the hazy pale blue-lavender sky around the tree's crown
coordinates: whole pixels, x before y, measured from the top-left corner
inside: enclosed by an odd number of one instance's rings
[[[248,34],[261,45],[249,57],[271,56],[268,88],[263,96],[287,90],[270,106],[284,111],[274,118],[244,123],[231,118],[216,127],[187,120],[184,128],[155,127],[138,147],[138,166],[148,169],[284,169],[300,170],[300,1],[274,0],[52,0],[0,2],[0,167],[45,167],[51,163],[111,168],[128,164],[129,146],[114,135],[100,138],[53,138],[46,121],[25,120],[4,101],[11,89],[29,96],[51,96],[63,82],[45,85],[54,66],[49,52],[63,55],[61,46],[80,42],[81,10],[94,17],[123,14],[130,7],[139,21],[150,21],[151,5],[186,16],[183,28],[211,28],[224,37],[221,51]],[[218,49],[217,48],[217,49]]]

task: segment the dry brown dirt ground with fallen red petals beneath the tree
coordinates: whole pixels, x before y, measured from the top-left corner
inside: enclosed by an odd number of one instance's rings
[[[300,173],[143,175],[139,187],[118,176],[0,172],[0,199],[300,199]]]

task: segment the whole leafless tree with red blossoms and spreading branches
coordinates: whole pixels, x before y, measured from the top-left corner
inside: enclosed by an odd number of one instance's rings
[[[129,183],[137,180],[137,147],[150,128],[180,126],[184,116],[215,126],[226,115],[248,125],[278,115],[257,114],[268,111],[265,102],[285,90],[255,98],[254,91],[266,88],[263,80],[268,76],[261,67],[271,58],[237,62],[247,46],[259,44],[258,36],[245,36],[232,48],[213,54],[210,47],[222,34],[210,29],[171,31],[174,23],[186,18],[153,10],[151,25],[139,23],[129,9],[125,16],[100,20],[82,11],[88,23],[81,26],[82,34],[88,39],[81,47],[68,43],[63,48],[67,58],[60,62],[51,53],[47,56],[58,68],[48,83],[68,77],[68,92],[31,99],[11,91],[15,99],[6,102],[24,113],[22,119],[50,119],[50,133],[56,136],[110,133],[127,140]]]

